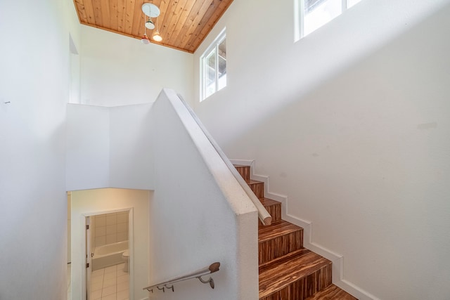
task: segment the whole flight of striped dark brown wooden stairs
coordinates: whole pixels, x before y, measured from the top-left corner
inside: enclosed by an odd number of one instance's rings
[[[332,284],[331,261],[303,247],[303,228],[281,219],[281,202],[264,197],[250,166],[235,167],[272,216],[270,226],[259,221],[259,300],[357,300]]]

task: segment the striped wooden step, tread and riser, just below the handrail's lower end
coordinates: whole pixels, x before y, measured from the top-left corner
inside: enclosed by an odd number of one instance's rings
[[[303,228],[286,221],[276,221],[271,226],[258,228],[258,262],[267,263],[302,249]]]

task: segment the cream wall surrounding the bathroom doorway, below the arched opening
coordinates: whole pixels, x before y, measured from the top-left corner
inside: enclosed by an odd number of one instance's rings
[[[151,197],[152,192],[147,190],[106,188],[72,192],[72,299],[84,299],[82,290],[85,288],[84,222],[86,215],[127,209],[133,209],[134,247],[130,252],[133,256],[130,268],[133,268],[131,272],[134,278],[130,277],[129,287],[134,291],[133,299],[146,298],[142,288],[148,281],[148,202]]]

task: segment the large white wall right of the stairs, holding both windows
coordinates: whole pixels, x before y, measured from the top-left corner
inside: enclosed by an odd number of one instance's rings
[[[293,1],[234,1],[195,53],[198,78],[226,26],[228,86],[195,110],[344,256],[360,299],[450,294],[448,15],[448,0],[364,0],[293,44]]]

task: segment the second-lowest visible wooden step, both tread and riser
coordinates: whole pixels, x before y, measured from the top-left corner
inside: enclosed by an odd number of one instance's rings
[[[304,300],[331,285],[331,261],[302,249],[259,268],[259,300]]]

